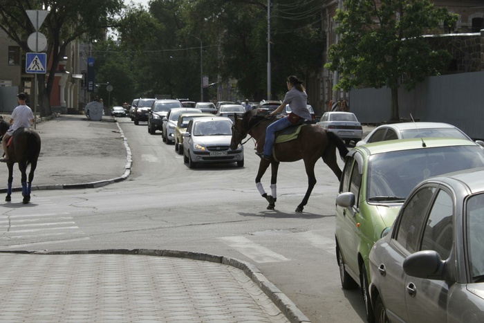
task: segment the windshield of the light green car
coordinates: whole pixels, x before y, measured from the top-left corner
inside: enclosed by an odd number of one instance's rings
[[[462,169],[484,167],[478,146],[409,149],[375,154],[369,158],[366,199],[403,201],[420,181]]]

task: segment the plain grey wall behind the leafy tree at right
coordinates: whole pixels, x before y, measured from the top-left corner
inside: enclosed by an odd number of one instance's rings
[[[350,111],[362,123],[380,124],[390,119],[391,93],[383,89],[350,92]],[[470,137],[484,138],[484,72],[428,77],[416,89],[398,91],[401,119],[447,122]]]

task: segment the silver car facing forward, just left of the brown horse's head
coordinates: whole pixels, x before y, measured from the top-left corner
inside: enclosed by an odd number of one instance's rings
[[[237,163],[243,167],[243,145],[230,149],[232,120],[211,116],[190,120],[183,133],[183,163],[190,168],[202,163]]]

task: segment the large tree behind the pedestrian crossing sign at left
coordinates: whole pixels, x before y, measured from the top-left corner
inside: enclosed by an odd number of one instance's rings
[[[39,32],[47,38],[47,77],[39,74],[39,106],[41,116],[48,116],[50,92],[54,86],[57,65],[65,49],[75,39],[87,42],[104,39],[106,29],[116,26],[124,4],[122,0],[0,0],[0,28],[15,41],[24,53],[29,52],[27,38],[35,32],[26,10],[48,10]]]

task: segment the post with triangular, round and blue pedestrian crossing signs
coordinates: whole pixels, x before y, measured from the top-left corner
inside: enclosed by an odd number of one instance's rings
[[[39,28],[48,15],[47,10],[26,10],[28,19],[34,25],[35,33],[30,34],[27,40],[28,48],[35,53],[27,53],[26,73],[35,73],[34,76],[34,129],[37,129],[37,74],[46,73],[47,59],[45,53],[38,53],[47,46],[46,37],[39,33]],[[37,55],[36,55],[37,54]]]

